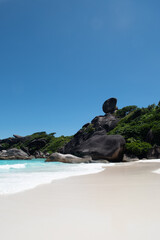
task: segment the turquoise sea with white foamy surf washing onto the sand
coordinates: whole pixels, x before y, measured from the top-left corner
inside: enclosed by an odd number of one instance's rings
[[[114,164],[108,164],[110,166]],[[0,160],[0,194],[13,194],[71,176],[98,173],[106,164],[67,164],[34,160]]]

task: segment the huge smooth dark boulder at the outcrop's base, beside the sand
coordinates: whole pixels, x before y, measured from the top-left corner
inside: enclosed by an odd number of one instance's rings
[[[95,132],[90,138],[73,146],[65,146],[63,153],[74,154],[78,157],[90,156],[92,160],[108,160],[121,162],[125,140],[120,135],[107,135],[104,130]]]

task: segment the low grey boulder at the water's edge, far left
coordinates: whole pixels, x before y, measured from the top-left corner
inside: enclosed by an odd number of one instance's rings
[[[17,148],[0,151],[1,160],[32,159],[32,158],[33,158],[32,156],[29,156],[26,152]]]

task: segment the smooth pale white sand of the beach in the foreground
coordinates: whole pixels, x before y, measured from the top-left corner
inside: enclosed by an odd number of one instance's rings
[[[2,240],[159,240],[160,163],[127,163],[0,197]]]

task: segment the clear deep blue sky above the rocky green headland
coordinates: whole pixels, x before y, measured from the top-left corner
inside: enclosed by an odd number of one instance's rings
[[[160,100],[159,0],[0,0],[0,138]]]

